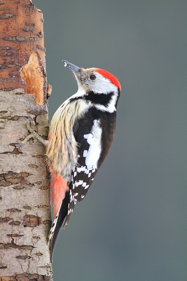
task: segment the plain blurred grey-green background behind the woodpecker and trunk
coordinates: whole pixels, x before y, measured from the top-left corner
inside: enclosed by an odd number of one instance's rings
[[[62,230],[54,280],[187,280],[186,1],[39,1],[50,120],[77,91],[62,59],[121,83],[112,149]]]

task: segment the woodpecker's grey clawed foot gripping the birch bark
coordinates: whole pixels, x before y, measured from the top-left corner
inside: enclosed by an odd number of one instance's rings
[[[33,138],[34,142],[31,144],[35,144],[36,140],[41,141],[44,145],[47,145],[48,141],[42,139],[41,136],[39,136],[35,131],[34,131],[34,126],[35,126],[35,121],[33,120],[32,117],[28,117],[31,119],[31,121],[29,119],[27,119],[26,117],[20,116],[19,119],[24,119],[27,129],[29,130],[30,134],[28,136],[26,136],[26,138],[20,143],[20,144],[15,144],[15,146],[21,146],[23,144],[26,144],[26,142],[30,139]],[[31,125],[30,125],[31,123]]]

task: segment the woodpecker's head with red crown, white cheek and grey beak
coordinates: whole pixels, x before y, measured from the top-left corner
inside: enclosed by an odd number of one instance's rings
[[[71,98],[84,98],[101,111],[116,111],[121,86],[115,76],[100,68],[80,68],[63,60],[74,73],[79,87]]]

